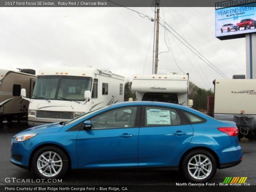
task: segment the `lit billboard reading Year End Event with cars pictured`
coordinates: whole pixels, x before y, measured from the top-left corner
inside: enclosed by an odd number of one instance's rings
[[[256,2],[230,7],[221,7],[216,4],[215,36],[217,38],[235,39],[245,37],[247,33],[256,33]]]

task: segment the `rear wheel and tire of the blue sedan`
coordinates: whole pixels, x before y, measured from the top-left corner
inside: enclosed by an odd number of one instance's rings
[[[206,162],[204,163],[204,167],[201,167],[202,164],[198,165],[198,163],[196,163],[195,161],[195,157],[197,159],[197,162],[199,161],[199,155],[200,155],[201,163],[204,162],[204,160],[206,160]],[[193,166],[192,164],[195,164],[195,166]],[[195,167],[195,169],[193,169],[193,167]],[[203,149],[197,149],[189,152],[184,157],[181,164],[181,168],[186,179],[194,183],[199,183],[199,182],[203,183],[211,180],[212,177],[215,175],[217,170],[217,163],[216,163],[215,157],[210,152]],[[188,168],[192,168],[192,169],[188,169]],[[199,170],[199,177],[198,177],[198,170]],[[193,176],[193,174],[195,174],[195,176]]]

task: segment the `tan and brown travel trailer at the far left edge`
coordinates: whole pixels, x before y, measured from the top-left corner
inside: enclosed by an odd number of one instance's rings
[[[0,69],[0,123],[4,119],[12,122],[14,118],[20,119],[28,115],[29,102],[21,98],[20,91],[26,89],[26,97],[32,96],[35,74],[36,71],[33,69]]]

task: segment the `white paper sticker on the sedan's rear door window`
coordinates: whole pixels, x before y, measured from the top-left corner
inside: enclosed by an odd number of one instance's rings
[[[148,109],[147,110],[147,124],[161,124],[170,125],[170,110],[160,110],[160,109]]]

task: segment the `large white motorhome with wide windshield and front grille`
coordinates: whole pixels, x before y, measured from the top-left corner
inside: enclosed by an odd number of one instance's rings
[[[124,101],[124,76],[97,68],[42,68],[29,101],[30,127],[68,121],[90,110]]]

